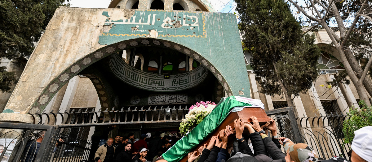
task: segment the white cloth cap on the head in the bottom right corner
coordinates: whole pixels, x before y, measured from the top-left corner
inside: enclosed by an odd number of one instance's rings
[[[351,148],[360,158],[372,162],[372,126],[360,128],[354,134]]]

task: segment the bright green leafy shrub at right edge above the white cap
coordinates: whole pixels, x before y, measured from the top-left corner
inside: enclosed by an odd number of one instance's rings
[[[354,131],[365,126],[372,126],[372,106],[367,106],[363,100],[359,101],[360,109],[350,109],[348,115],[351,117],[344,121],[342,132],[345,136],[345,143],[350,144],[354,139]]]

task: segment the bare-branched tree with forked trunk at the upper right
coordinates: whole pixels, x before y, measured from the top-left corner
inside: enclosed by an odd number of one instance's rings
[[[371,1],[368,0],[288,0],[305,17],[310,30],[321,26],[326,31],[340,55],[350,80],[355,85],[359,98],[371,105],[367,92],[372,95],[372,80],[367,76],[372,64],[371,44],[353,43],[353,35],[364,34],[362,40],[371,39]],[[359,31],[367,28],[366,33]],[[336,34],[340,32],[340,36]],[[355,41],[354,41],[355,42]],[[368,62],[364,69],[357,61],[356,54],[362,53]]]

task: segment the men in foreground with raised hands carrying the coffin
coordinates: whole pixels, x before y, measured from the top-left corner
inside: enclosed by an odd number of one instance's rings
[[[260,126],[256,117],[250,118],[253,124],[243,122],[242,118],[234,121],[235,129],[227,126],[213,136],[208,145],[201,146],[199,151],[190,152],[188,162],[372,162],[372,126],[366,126],[355,131],[350,161],[334,156],[324,160],[320,158],[307,144],[295,144],[291,139],[279,137],[273,119]],[[244,136],[247,130],[249,135]],[[266,131],[265,131],[266,129]],[[271,138],[267,132],[271,132]],[[233,147],[227,148],[228,136],[234,136]],[[250,139],[253,148],[248,146]],[[281,150],[281,145],[285,153]],[[164,159],[157,162],[165,162]]]

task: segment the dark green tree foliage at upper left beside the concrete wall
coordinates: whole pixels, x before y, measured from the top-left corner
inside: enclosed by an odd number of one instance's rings
[[[28,58],[54,11],[69,0],[1,0],[0,61]],[[14,74],[0,68],[0,90],[7,92]]]

